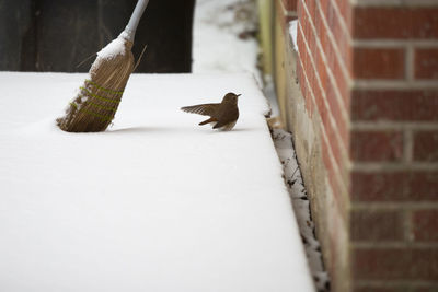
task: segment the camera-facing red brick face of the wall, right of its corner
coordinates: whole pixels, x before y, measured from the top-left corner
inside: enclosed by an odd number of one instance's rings
[[[351,269],[359,291],[438,291],[438,2],[394,2],[348,26]]]

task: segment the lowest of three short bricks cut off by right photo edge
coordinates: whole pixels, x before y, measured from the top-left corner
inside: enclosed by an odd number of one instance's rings
[[[415,241],[438,242],[438,210],[415,211],[412,225]]]

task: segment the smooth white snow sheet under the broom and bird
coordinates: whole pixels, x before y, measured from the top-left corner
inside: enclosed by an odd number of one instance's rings
[[[0,72],[1,291],[313,291],[251,75],[134,74],[108,131],[60,131],[85,77]],[[178,109],[229,91],[232,131]]]

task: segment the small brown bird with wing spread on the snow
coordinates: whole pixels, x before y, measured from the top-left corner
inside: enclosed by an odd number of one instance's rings
[[[215,124],[212,126],[214,129],[229,131],[234,127],[239,118],[238,96],[240,96],[240,94],[229,92],[219,104],[199,104],[184,106],[181,109],[187,113],[210,117],[199,122],[199,126],[212,122]]]

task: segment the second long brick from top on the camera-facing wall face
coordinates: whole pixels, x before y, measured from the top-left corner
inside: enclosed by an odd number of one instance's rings
[[[355,90],[353,120],[438,120],[438,91]]]

